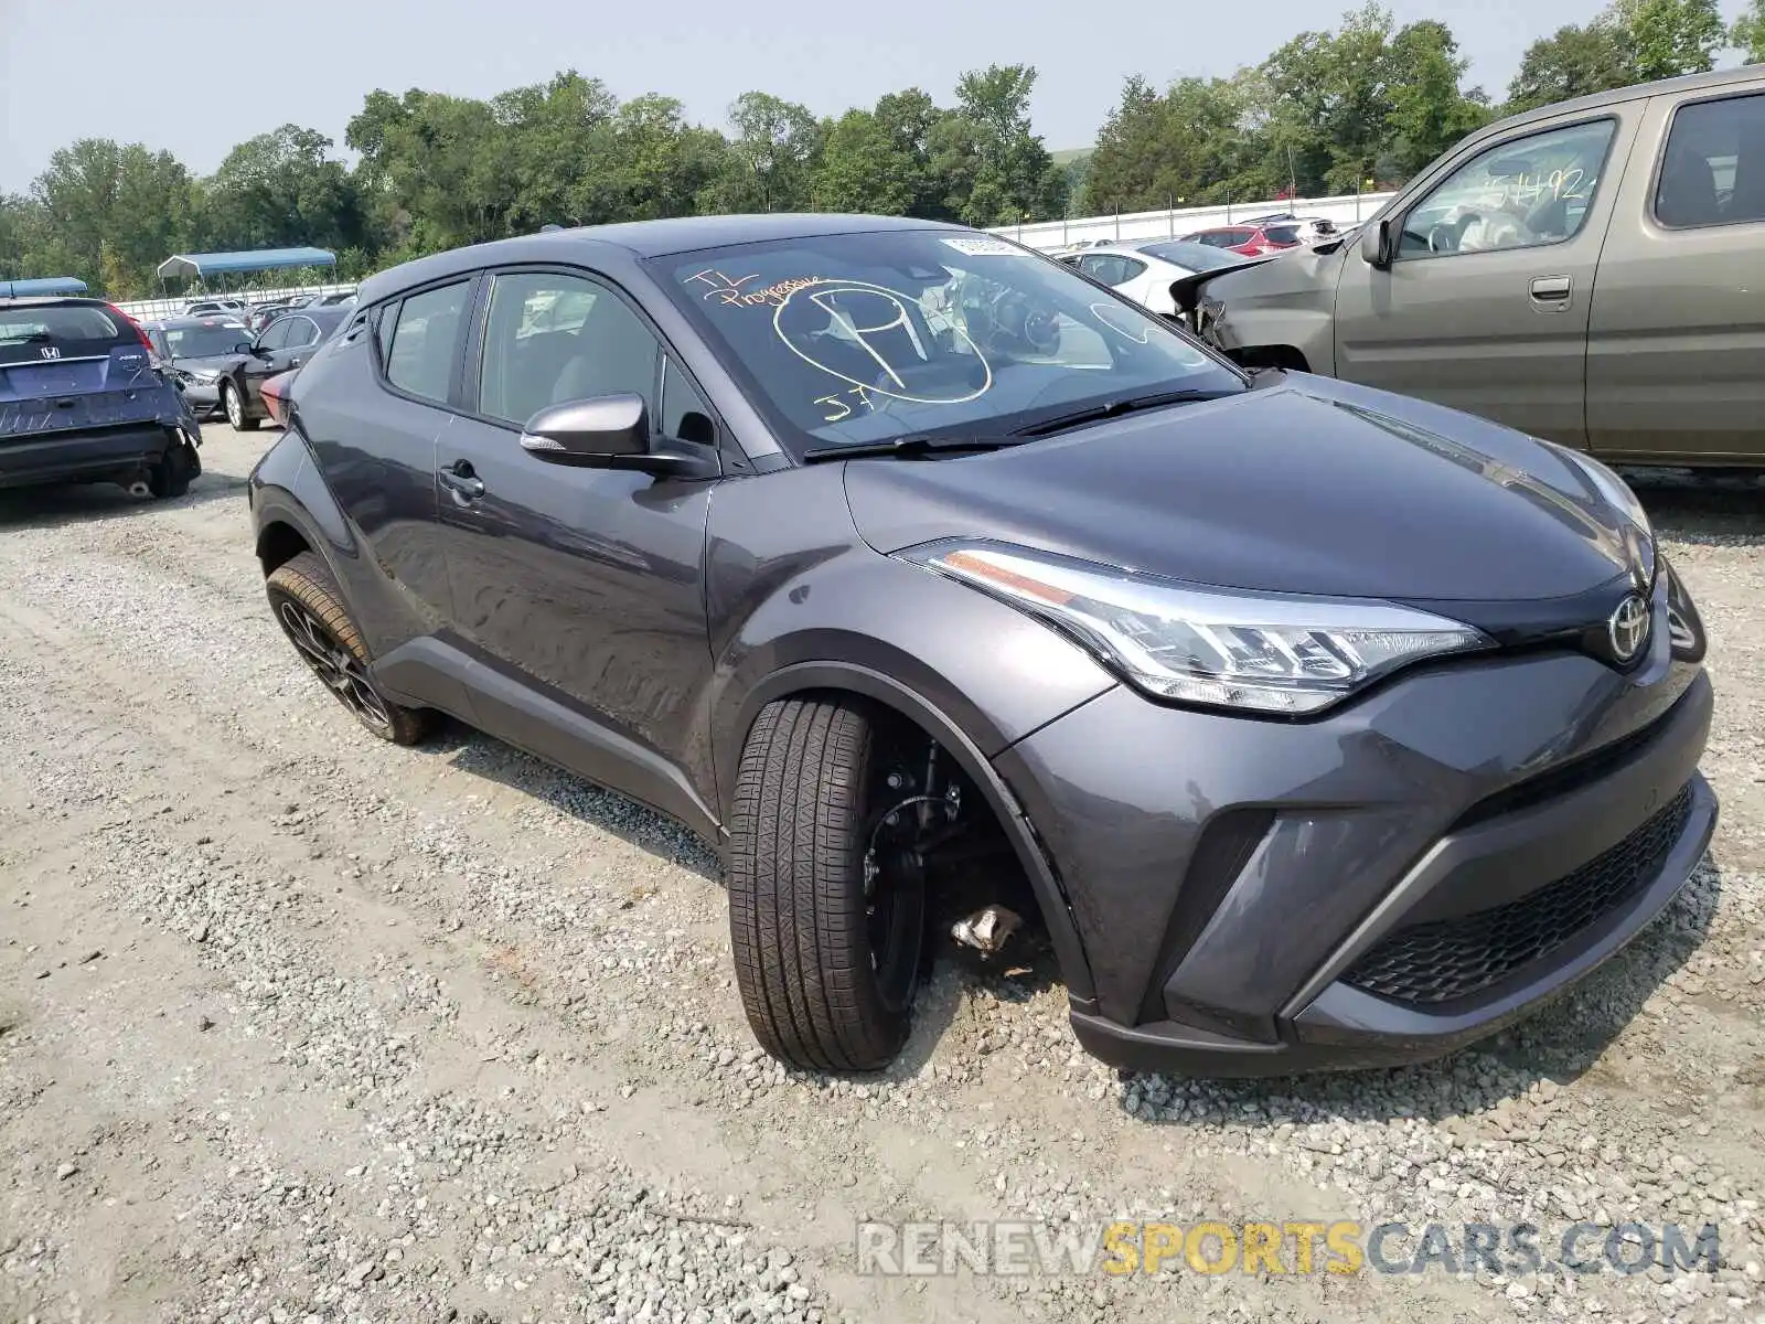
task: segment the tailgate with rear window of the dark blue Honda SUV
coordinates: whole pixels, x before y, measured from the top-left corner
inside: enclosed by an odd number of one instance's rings
[[[166,411],[134,327],[101,304],[0,302],[0,441],[127,427]]]

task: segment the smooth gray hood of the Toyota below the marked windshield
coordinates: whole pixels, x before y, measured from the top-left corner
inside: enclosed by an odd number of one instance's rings
[[[1174,579],[1408,602],[1567,598],[1652,547],[1566,452],[1303,374],[939,461],[849,461],[860,533],[973,537]]]

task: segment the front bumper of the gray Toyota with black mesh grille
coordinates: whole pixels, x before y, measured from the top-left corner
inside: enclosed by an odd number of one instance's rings
[[[1664,593],[1629,674],[1463,660],[1304,724],[1117,687],[1003,752],[1089,959],[1084,1047],[1221,1077],[1421,1061],[1619,952],[1717,814]]]

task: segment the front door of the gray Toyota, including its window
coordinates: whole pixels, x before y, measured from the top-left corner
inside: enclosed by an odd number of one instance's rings
[[[570,468],[521,448],[565,401],[635,392],[651,431],[711,440],[710,410],[648,323],[575,274],[499,272],[468,350],[466,406],[436,478],[454,620],[480,651],[482,726],[678,817],[710,639],[704,480]]]

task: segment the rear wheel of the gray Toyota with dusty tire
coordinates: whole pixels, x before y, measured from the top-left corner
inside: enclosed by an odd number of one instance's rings
[[[417,745],[434,729],[432,711],[395,704],[374,687],[362,634],[342,606],[330,567],[316,553],[304,551],[277,567],[265,591],[300,660],[362,726],[394,745]]]

